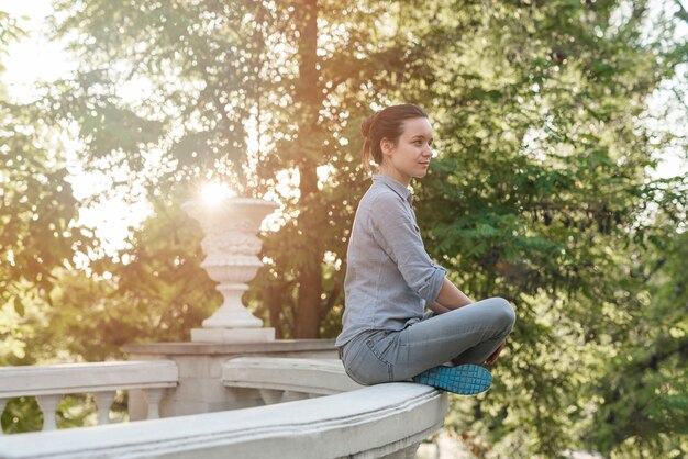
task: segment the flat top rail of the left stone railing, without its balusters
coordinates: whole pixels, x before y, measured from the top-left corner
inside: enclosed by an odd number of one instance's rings
[[[0,368],[0,399],[174,388],[179,379],[170,360],[67,363]]]

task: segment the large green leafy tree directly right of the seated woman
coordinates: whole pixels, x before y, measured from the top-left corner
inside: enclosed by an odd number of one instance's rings
[[[442,56],[434,87],[437,137],[450,141],[417,189],[419,219],[432,222],[425,242],[469,294],[504,296],[519,316],[512,350],[495,370],[498,390],[457,402],[456,417],[459,426],[478,419],[473,428],[504,455],[554,457],[575,447],[629,454],[625,439],[651,444],[658,433],[674,440],[636,454],[686,446],[676,441],[683,421],[646,429],[626,410],[628,424],[600,428],[619,419],[602,414],[623,404],[619,394],[657,390],[678,408],[686,393],[681,378],[667,390],[658,374],[643,391],[629,389],[612,378],[619,367],[606,365],[624,359],[629,346],[642,347],[645,360],[664,359],[665,351],[647,355],[648,340],[629,336],[639,323],[658,326],[639,313],[645,287],[629,271],[646,238],[664,239],[644,219],[663,198],[646,172],[653,133],[637,120],[684,58],[676,47],[640,41],[645,3],[618,30],[614,7],[495,2],[456,57]],[[676,217],[687,189],[670,182],[677,188],[665,208]],[[676,356],[680,347],[670,349]],[[669,367],[667,374],[684,374]],[[602,387],[618,406],[601,402],[609,400]]]

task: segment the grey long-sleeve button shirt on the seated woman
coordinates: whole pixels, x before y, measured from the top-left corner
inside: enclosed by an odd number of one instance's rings
[[[420,321],[446,270],[423,246],[411,192],[388,176],[373,176],[348,239],[341,347],[368,329],[399,331]]]

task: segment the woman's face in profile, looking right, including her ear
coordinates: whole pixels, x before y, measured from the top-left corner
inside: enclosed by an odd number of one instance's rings
[[[388,139],[380,143],[384,155],[380,172],[404,184],[409,184],[413,177],[425,177],[432,157],[431,145],[430,121],[426,117],[406,120],[396,146]]]

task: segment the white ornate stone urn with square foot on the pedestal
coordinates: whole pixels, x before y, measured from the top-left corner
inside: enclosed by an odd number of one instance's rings
[[[210,278],[220,284],[222,306],[203,321],[203,328],[191,331],[192,342],[255,343],[275,339],[275,328],[263,328],[263,321],[242,303],[247,283],[263,262],[257,255],[260,239],[256,233],[263,220],[278,204],[252,198],[228,198],[217,203],[187,201],[181,209],[196,219],[206,237],[201,242],[207,255],[201,264]]]

